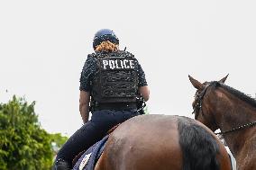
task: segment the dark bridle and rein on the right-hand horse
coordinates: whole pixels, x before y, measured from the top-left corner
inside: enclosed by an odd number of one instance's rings
[[[197,120],[197,117],[199,115],[199,112],[201,110],[202,112],[202,116],[205,116],[203,110],[202,110],[202,103],[203,103],[203,99],[204,99],[204,96],[206,94],[206,91],[207,89],[209,88],[209,86],[212,86],[212,85],[220,85],[219,82],[211,82],[209,83],[208,85],[205,86],[205,88],[202,90],[201,93],[199,93],[199,91],[197,90],[197,93],[195,95],[195,106],[193,107],[194,111],[192,113],[195,113],[195,119]],[[218,132],[218,133],[215,133],[215,135],[224,135],[224,134],[227,134],[227,133],[230,133],[230,132],[233,132],[233,131],[237,131],[237,130],[243,130],[245,128],[250,128],[252,126],[255,126],[256,125],[256,121],[252,121],[252,122],[249,122],[249,123],[246,123],[246,124],[243,124],[241,126],[238,126],[238,127],[234,127],[233,129],[231,130],[225,130],[225,131],[221,131],[221,132]]]

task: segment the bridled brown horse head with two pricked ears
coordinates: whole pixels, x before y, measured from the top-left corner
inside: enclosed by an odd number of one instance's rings
[[[195,100],[192,103],[192,107],[194,109],[193,113],[195,113],[195,119],[197,121],[201,121],[213,131],[219,128],[215,120],[215,110],[213,108],[215,104],[212,104],[217,102],[215,100],[215,88],[220,84],[224,84],[227,76],[224,76],[224,78],[219,81],[205,83],[200,83],[192,76],[188,76],[191,84],[197,89],[197,92],[195,94]]]

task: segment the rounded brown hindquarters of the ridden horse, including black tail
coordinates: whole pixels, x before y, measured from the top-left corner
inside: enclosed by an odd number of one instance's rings
[[[142,115],[112,132],[96,170],[230,170],[224,145],[199,121]]]

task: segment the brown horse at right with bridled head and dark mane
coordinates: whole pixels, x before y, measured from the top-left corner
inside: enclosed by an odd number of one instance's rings
[[[197,88],[193,108],[197,121],[220,129],[239,170],[256,169],[256,101],[220,81],[205,82],[189,76]]]

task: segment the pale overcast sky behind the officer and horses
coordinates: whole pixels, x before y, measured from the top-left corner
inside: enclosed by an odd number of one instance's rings
[[[103,28],[140,61],[150,113],[193,117],[188,74],[230,74],[226,85],[255,96],[255,9],[255,0],[0,1],[0,103],[25,96],[45,130],[78,130],[79,76]]]

